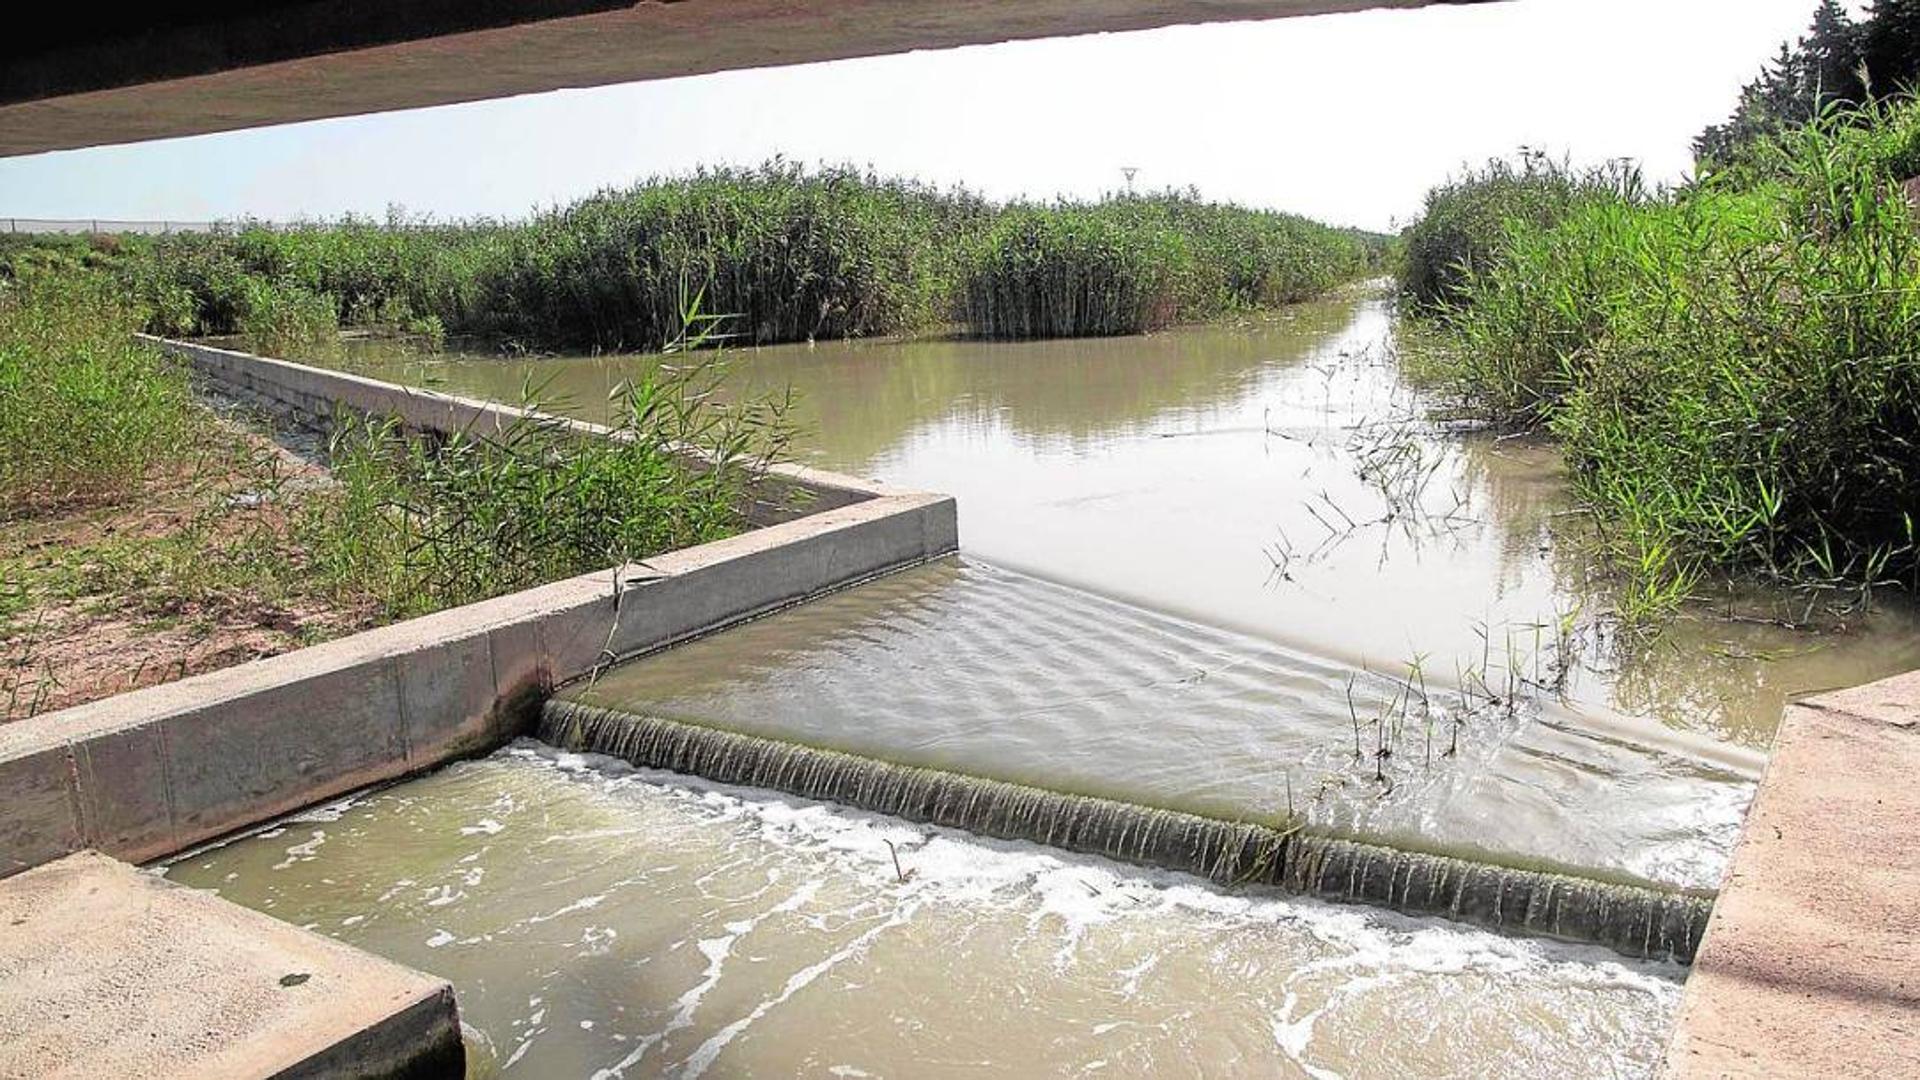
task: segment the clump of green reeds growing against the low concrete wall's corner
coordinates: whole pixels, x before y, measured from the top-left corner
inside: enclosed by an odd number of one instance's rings
[[[720,375],[703,361],[622,384],[607,440],[541,421],[444,440],[344,421],[336,486],[296,534],[328,588],[394,619],[732,536],[791,432],[785,402],[726,404]]]

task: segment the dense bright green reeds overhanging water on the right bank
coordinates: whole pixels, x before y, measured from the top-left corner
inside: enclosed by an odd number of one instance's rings
[[[1912,584],[1916,171],[1903,100],[1830,108],[1665,192],[1538,160],[1469,175],[1434,204],[1498,229],[1444,267],[1409,244],[1405,288],[1442,327],[1417,365],[1469,411],[1557,436],[1628,607],[1709,573]],[[1423,292],[1436,275],[1450,294]]]

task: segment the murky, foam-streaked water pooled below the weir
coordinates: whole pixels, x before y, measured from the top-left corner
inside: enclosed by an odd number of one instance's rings
[[[169,876],[453,980],[482,1074],[1638,1076],[1678,999],[1672,967],[534,744]]]

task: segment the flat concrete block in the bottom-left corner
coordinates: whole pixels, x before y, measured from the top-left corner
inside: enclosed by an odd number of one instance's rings
[[[0,1078],[463,1070],[444,980],[94,851],[0,882]]]

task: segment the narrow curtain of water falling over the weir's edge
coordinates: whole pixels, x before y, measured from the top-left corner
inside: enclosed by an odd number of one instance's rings
[[[1277,886],[1509,934],[1597,944],[1632,957],[1692,961],[1711,909],[1707,897],[1682,890],[1069,796],[566,700],[547,701],[540,738],[722,784],[1185,871],[1221,884]]]

